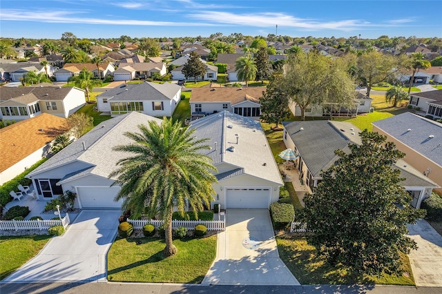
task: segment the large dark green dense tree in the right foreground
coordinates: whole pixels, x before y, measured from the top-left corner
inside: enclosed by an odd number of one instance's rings
[[[407,224],[424,213],[410,205],[392,166],[405,154],[383,135],[360,135],[362,144],[349,145],[349,153],[335,151],[338,161],[322,173],[314,195],[304,197],[305,220],[314,231],[308,240],[329,264],[354,275],[400,275],[399,253],[416,249]]]

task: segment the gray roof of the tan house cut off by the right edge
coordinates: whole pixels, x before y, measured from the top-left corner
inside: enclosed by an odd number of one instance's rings
[[[374,121],[372,124],[442,166],[442,124],[410,112]],[[430,138],[430,135],[434,137]]]

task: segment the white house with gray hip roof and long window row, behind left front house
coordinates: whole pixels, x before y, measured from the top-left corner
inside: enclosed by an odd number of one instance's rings
[[[99,111],[111,115],[142,112],[153,117],[170,117],[181,99],[181,86],[171,83],[122,85],[97,96]]]

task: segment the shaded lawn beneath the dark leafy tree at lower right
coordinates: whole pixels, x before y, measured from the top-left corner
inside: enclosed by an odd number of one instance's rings
[[[401,255],[404,275],[367,276],[356,279],[343,267],[332,267],[307,244],[305,237],[276,237],[280,258],[301,284],[393,284],[414,286],[414,277],[407,255]]]

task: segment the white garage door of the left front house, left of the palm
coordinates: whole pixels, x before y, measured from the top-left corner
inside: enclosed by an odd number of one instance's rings
[[[77,187],[81,208],[122,208],[122,201],[113,199],[119,192],[118,187]]]

